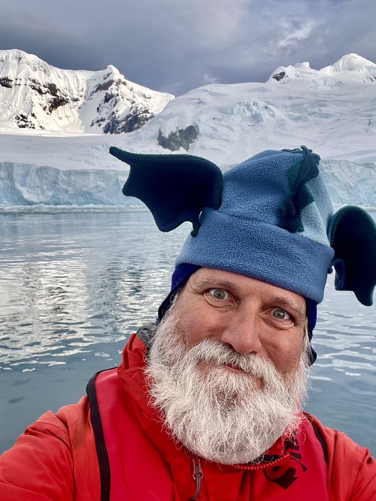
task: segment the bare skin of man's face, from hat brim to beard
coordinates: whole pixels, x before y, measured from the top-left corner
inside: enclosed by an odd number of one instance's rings
[[[297,366],[306,320],[305,299],[231,272],[201,268],[181,291],[175,314],[187,349],[205,338],[241,354],[271,360],[283,375]],[[229,371],[236,367],[227,366]]]

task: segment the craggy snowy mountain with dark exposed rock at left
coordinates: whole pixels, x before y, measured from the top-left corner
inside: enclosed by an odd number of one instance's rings
[[[131,132],[173,99],[103,71],[61,70],[20,50],[0,51],[0,127],[66,133]]]

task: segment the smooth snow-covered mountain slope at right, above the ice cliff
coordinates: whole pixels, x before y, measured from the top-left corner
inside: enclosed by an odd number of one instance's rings
[[[306,144],[324,158],[376,162],[376,64],[356,54],[313,70],[277,68],[266,83],[211,84],[170,102],[124,145],[189,151],[229,167]]]

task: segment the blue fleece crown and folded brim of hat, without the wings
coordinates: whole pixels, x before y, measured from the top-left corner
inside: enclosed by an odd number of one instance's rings
[[[332,207],[318,163],[307,148],[268,150],[225,173],[221,207],[204,208],[198,234],[187,238],[176,267],[239,273],[320,303],[334,251],[326,236]],[[307,175],[297,185],[302,166]],[[291,218],[299,217],[300,231],[281,227],[289,224],[286,205]]]

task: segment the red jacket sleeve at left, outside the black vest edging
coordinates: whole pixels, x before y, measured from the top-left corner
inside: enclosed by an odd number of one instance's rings
[[[99,467],[87,397],[29,426],[0,457],[0,501],[92,501]]]

